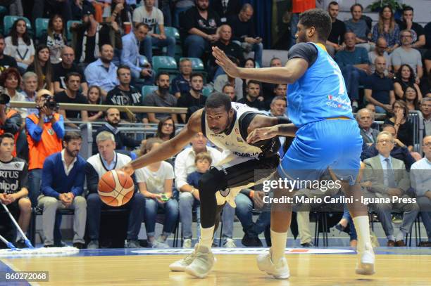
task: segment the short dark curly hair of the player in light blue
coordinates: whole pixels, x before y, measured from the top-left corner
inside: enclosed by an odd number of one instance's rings
[[[311,9],[299,15],[299,22],[304,27],[314,27],[318,32],[318,38],[326,41],[331,32],[332,20],[329,13],[322,9]]]

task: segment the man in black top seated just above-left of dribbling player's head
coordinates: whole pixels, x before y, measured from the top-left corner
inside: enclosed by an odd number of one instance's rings
[[[177,107],[187,108],[187,114],[180,114],[182,122],[187,123],[190,116],[201,108],[204,108],[206,96],[202,95],[204,87],[204,76],[194,73],[190,76],[190,91],[181,93],[177,100]]]

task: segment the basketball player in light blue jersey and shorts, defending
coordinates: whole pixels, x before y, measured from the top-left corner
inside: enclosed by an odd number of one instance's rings
[[[247,142],[273,136],[295,136],[274,179],[318,180],[329,169],[332,176],[342,181],[346,197],[358,199],[358,202],[354,200],[355,203],[348,205],[358,232],[356,273],[372,275],[375,256],[370,241],[367,207],[361,204],[361,188],[356,184],[362,138],[352,114],[342,73],[324,46],[331,30],[330,15],[320,9],[305,11],[297,27],[297,44],[289,50],[285,67],[240,68],[215,47],[213,56],[231,77],[289,84],[288,113],[293,124],[255,129],[249,134]],[[276,190],[274,197],[287,193],[285,189]],[[272,247],[269,254],[261,254],[257,260],[258,268],[275,278],[289,277],[285,246],[291,216],[292,207],[289,204],[272,204]]]

